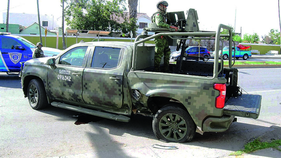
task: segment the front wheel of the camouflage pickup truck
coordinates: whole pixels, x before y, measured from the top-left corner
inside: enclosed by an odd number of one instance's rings
[[[28,102],[32,109],[43,109],[47,106],[47,95],[43,83],[39,79],[33,79],[28,85]]]

